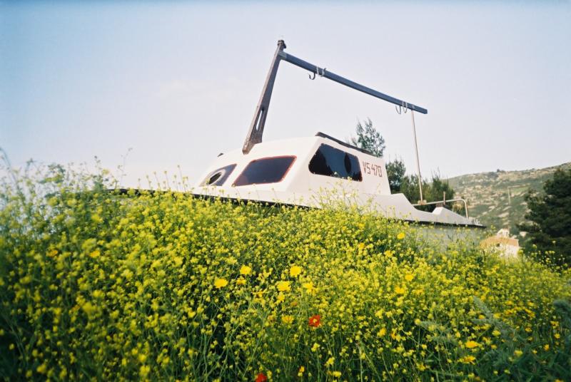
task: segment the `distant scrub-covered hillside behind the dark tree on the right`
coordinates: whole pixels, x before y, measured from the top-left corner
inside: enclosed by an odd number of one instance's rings
[[[522,171],[480,172],[460,175],[448,181],[456,195],[468,199],[470,216],[483,224],[509,228],[517,234],[515,224],[525,220],[527,205],[523,196],[529,188],[542,190],[543,182],[552,177],[557,168],[570,169],[571,162],[541,169]],[[508,187],[510,197],[508,197]]]

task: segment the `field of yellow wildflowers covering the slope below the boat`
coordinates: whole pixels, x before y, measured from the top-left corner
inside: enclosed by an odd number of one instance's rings
[[[571,379],[569,270],[104,177],[2,180],[0,378]]]

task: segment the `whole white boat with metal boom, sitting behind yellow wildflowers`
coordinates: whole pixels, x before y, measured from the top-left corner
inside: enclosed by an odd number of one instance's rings
[[[398,220],[453,227],[483,227],[477,220],[468,217],[468,207],[463,200],[448,202],[464,202],[464,216],[445,207],[436,207],[433,212],[418,210],[418,205],[413,205],[402,193],[391,194],[383,158],[324,133],[307,138],[262,142],[273,81],[278,63],[282,60],[313,71],[314,77],[317,74],[330,78],[388,100],[401,110],[405,108],[410,113],[427,113],[419,106],[365,88],[285,54],[283,48],[285,43],[279,41],[246,143],[242,149],[218,155],[196,184],[193,190],[196,196],[315,208],[340,203]],[[420,204],[445,205],[446,202],[421,201]]]

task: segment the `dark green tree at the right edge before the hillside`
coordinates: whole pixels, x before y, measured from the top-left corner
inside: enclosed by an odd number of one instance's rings
[[[571,170],[557,169],[553,178],[543,184],[543,192],[530,189],[525,201],[529,222],[517,228],[527,232],[526,252],[571,266]]]

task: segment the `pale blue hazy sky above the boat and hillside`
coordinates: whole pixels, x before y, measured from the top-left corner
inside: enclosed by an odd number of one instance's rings
[[[571,161],[568,1],[0,1],[0,147],[126,182],[197,180],[240,148],[279,38],[289,53],[428,108],[424,175]],[[266,140],[347,138],[371,118],[415,170],[410,114],[282,63]]]

